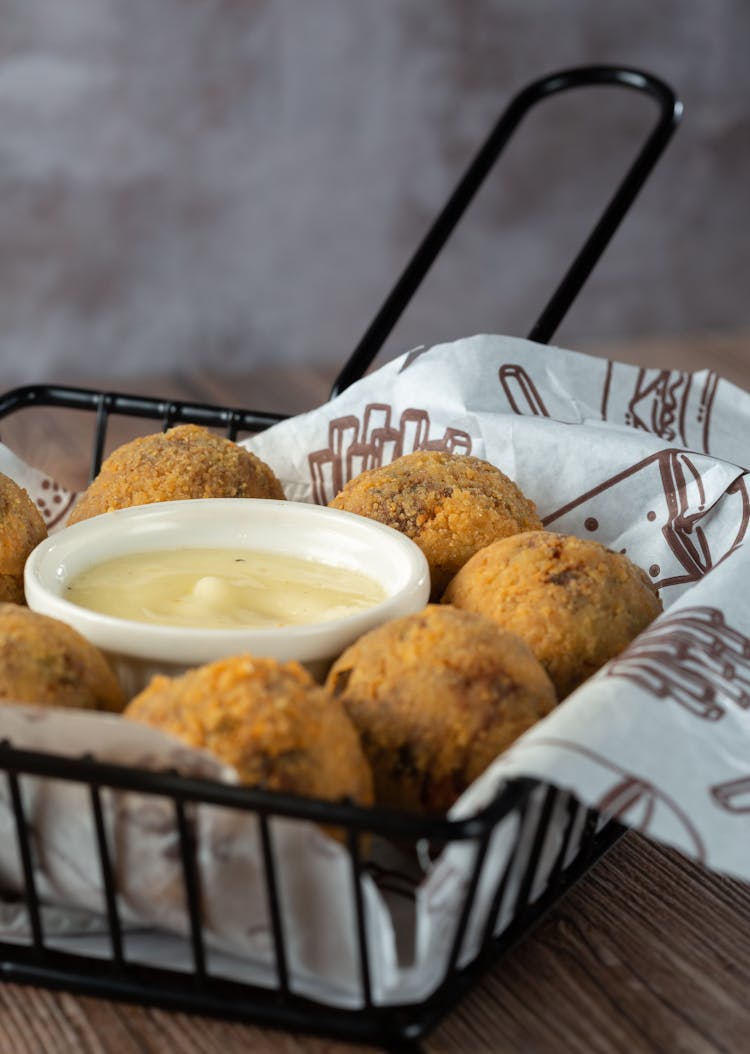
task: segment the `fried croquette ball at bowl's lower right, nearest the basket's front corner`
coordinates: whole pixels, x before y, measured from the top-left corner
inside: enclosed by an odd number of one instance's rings
[[[524,641],[436,604],[364,633],[325,683],[359,733],[376,802],[420,813],[449,808],[556,702]]]

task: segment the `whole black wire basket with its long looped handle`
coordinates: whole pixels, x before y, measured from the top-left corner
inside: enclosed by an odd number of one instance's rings
[[[332,396],[369,368],[442,246],[492,169],[524,116],[539,101],[562,91],[615,85],[646,94],[658,118],[637,156],[595,223],[578,255],[533,326],[530,337],[546,343],[554,333],[601,252],[626,214],[680,116],[671,90],[658,79],[633,70],[595,66],[554,74],[527,86],[506,109],[486,143],[459,181],[434,225],[375,316],[362,340],[342,367]],[[228,437],[258,432],[282,419],[268,411],[232,409],[169,398],[152,398],[64,386],[36,385],[0,396],[0,416],[32,407],[85,411],[91,421],[88,474],[98,471],[111,422],[135,417],[158,422],[163,429],[198,424]],[[5,906],[21,907],[24,936],[0,940],[4,978],[52,988],[125,999],[303,1030],[384,1046],[416,1043],[447,1014],[487,965],[515,943],[540,915],[623,834],[624,828],[578,803],[567,792],[529,779],[505,783],[493,799],[461,819],[422,817],[348,803],[263,792],[252,787],[151,772],[97,761],[91,757],[23,750],[0,742],[4,773],[4,806],[16,854],[20,889],[0,891]],[[37,832],[29,821],[27,790],[42,779],[76,787],[93,832],[93,859],[87,867],[101,892],[102,946],[97,954],[62,949],[47,932],[44,898],[39,892]],[[117,847],[108,814],[118,796],[146,795],[172,817],[184,905],[186,965],[173,969],[129,954],[116,880]],[[270,935],[270,971],[262,982],[239,980],[212,970],[204,926],[203,876],[197,852],[197,811],[216,806],[253,818],[257,824],[261,886]],[[354,925],[349,1004],[301,992],[290,955],[290,920],[282,894],[278,854],[279,822],[295,821],[338,832],[348,858],[349,907]],[[512,824],[513,840],[498,865],[493,837]],[[451,932],[435,967],[434,980],[418,998],[380,998],[373,980],[373,933],[366,907],[366,882],[388,876],[373,865],[373,844],[416,846],[435,859],[447,847],[463,845],[469,864],[454,899]],[[426,865],[430,866],[429,862]],[[482,892],[479,911],[478,891]]]

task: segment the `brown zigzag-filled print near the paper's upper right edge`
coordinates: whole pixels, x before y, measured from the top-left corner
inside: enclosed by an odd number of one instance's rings
[[[601,392],[601,417],[709,453],[711,411],[718,377],[698,378],[680,370],[642,368],[635,384],[624,383],[620,370],[632,367],[608,363]],[[615,376],[617,373],[617,376]]]

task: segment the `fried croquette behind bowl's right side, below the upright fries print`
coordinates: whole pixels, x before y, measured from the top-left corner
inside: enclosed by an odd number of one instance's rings
[[[408,534],[430,565],[432,600],[477,549],[541,527],[533,502],[498,468],[439,450],[417,450],[369,469],[330,505]]]

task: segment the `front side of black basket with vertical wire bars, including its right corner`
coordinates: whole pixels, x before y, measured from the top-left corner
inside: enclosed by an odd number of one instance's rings
[[[111,998],[190,1010],[221,1017],[254,1020],[285,1028],[337,1034],[355,1040],[391,1043],[416,1039],[428,1032],[455,1003],[479,972],[498,953],[511,946],[573,881],[617,840],[621,827],[597,824],[597,816],[585,809],[565,792],[541,786],[533,780],[513,780],[483,809],[463,820],[429,818],[386,811],[331,804],[312,799],[272,794],[249,787],[182,777],[174,773],[144,772],[90,758],[62,758],[0,743],[6,801],[13,812],[17,848],[22,862],[21,899],[27,914],[25,942],[0,941],[3,976],[53,988],[64,988]],[[23,804],[23,785],[32,778],[46,777],[77,783],[86,790],[91,823],[96,832],[98,871],[103,891],[108,951],[87,957],[53,946],[45,932],[42,902],[37,890],[35,832]],[[102,796],[104,793],[137,793],[156,796],[174,811],[178,836],[180,873],[189,919],[186,942],[190,967],[170,970],[129,959],[123,922],[118,906],[113,850],[106,836]],[[525,823],[532,797],[537,807],[531,825]],[[208,965],[201,906],[201,875],[191,814],[194,806],[216,805],[258,818],[262,844],[264,894],[271,920],[275,977],[268,984],[230,980],[212,975]],[[564,822],[554,839],[551,862],[541,868],[542,853],[551,833],[551,820],[561,806]],[[289,970],[283,902],[279,892],[274,850],[273,819],[305,820],[346,831],[351,862],[352,902],[355,905],[359,999],[356,1008],[327,1006],[295,992]],[[468,963],[461,964],[476,891],[487,864],[488,846],[498,824],[510,817],[527,838],[517,839],[493,884],[489,909],[482,920],[481,939]],[[474,847],[473,865],[460,899],[455,930],[441,977],[426,999],[416,1002],[380,1003],[371,984],[371,940],[363,906],[362,845],[380,837],[399,842],[415,839],[435,845],[467,842]],[[524,859],[518,854],[526,844]],[[520,863],[520,866],[518,864]],[[540,870],[541,868],[541,870]],[[541,878],[542,892],[535,892]],[[513,889],[511,890],[511,882]],[[510,902],[508,900],[510,894]],[[14,894],[18,898],[18,894]],[[497,932],[500,913],[508,921]]]

